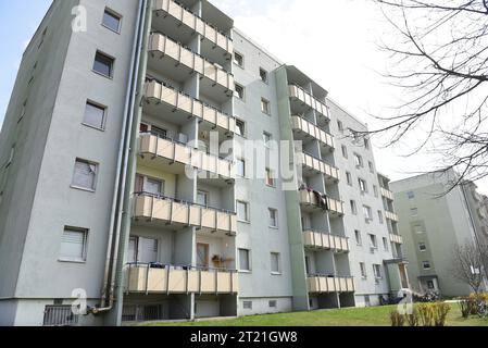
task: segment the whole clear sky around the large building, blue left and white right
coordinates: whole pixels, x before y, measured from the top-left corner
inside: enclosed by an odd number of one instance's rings
[[[368,124],[372,113],[398,104],[401,95],[380,75],[391,61],[378,49],[391,34],[377,8],[366,0],[213,0],[235,20],[237,28],[286,64],[296,65],[329,91],[329,97]],[[0,55],[0,124],[18,70],[22,53],[51,0],[0,0],[0,33],[5,46]],[[16,14],[23,14],[23,21]],[[3,35],[3,34],[2,34]],[[7,49],[9,48],[9,49]],[[415,139],[411,139],[415,141]],[[405,158],[403,144],[383,148],[373,139],[376,165],[391,179],[433,170],[431,154]],[[488,178],[477,183],[488,194]]]

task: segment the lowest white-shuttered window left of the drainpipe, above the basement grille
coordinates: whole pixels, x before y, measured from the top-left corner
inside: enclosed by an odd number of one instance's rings
[[[88,229],[64,227],[61,236],[60,261],[85,262]]]

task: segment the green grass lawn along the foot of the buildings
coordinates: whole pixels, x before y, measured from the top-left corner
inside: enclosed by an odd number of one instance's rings
[[[242,316],[229,320],[146,323],[148,326],[390,326],[389,313],[395,306],[351,308],[312,312]],[[448,326],[488,326],[488,319],[461,316],[458,303],[451,303]]]

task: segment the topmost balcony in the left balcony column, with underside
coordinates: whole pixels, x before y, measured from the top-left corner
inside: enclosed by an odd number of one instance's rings
[[[230,57],[234,52],[232,38],[207,24],[198,15],[184,9],[173,0],[155,0],[155,18],[153,25],[158,28],[172,28],[184,37],[195,33],[202,36],[202,42],[220,55]]]

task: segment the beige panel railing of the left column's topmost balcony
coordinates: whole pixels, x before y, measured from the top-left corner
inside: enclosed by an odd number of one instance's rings
[[[154,4],[154,11],[163,11],[175,20],[186,25],[192,32],[200,34],[203,39],[213,44],[214,48],[223,50],[226,54],[234,52],[234,45],[232,38],[223,33],[220,33],[216,28],[207,24],[198,15],[183,8],[180,4],[173,0],[157,0]]]

